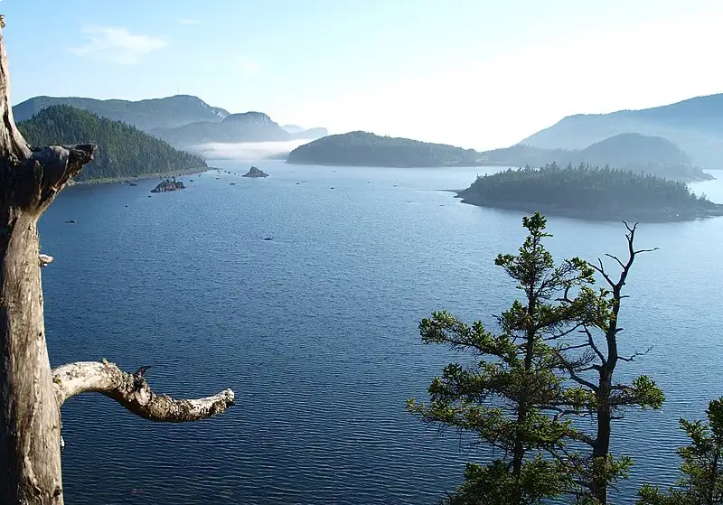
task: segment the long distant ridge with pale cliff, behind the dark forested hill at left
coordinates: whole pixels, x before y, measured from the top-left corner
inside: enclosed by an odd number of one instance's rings
[[[221,121],[229,116],[228,111],[211,107],[201,98],[188,95],[136,102],[78,97],[35,97],[16,105],[13,108],[13,115],[15,121],[24,121],[35,116],[43,108],[53,105],[69,105],[88,110],[96,116],[122,121],[144,131],[183,126],[196,121]]]

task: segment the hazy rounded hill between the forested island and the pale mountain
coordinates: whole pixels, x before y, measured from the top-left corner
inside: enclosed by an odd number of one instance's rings
[[[543,149],[518,144],[486,151],[483,156],[486,164],[504,166],[585,163],[651,173],[683,182],[713,179],[709,173],[694,167],[690,156],[670,141],[640,134],[611,136],[580,150]]]

